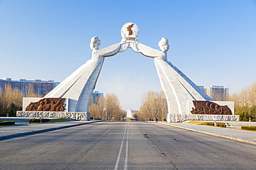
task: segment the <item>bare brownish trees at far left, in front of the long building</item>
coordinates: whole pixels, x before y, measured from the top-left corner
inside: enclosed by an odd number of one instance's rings
[[[5,89],[0,89],[0,116],[16,116],[16,111],[22,109],[23,97],[40,97],[38,96],[33,87],[24,96],[20,89],[12,88],[6,85]]]

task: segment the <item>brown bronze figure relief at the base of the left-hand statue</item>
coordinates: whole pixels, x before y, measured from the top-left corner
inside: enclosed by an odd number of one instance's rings
[[[31,102],[25,111],[64,111],[65,98],[43,98],[38,102]]]

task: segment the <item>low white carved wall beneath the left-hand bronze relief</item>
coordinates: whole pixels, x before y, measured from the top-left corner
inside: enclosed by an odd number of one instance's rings
[[[73,120],[90,120],[89,112],[67,112],[67,111],[17,111],[17,117],[30,118],[71,118]]]

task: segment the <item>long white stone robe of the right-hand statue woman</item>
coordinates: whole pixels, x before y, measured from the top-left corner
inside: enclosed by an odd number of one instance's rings
[[[188,114],[192,100],[212,100],[181,70],[163,59],[154,59],[169,114]]]

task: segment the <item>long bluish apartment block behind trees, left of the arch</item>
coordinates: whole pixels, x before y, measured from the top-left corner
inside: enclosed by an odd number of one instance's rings
[[[12,78],[3,78],[0,79],[0,92],[5,94],[6,88],[11,87],[12,89],[19,89],[23,96],[35,92],[35,94],[44,97],[59,84],[60,82],[54,82],[53,80],[35,79],[35,81],[27,81],[26,79],[20,79],[19,81],[12,81]]]

